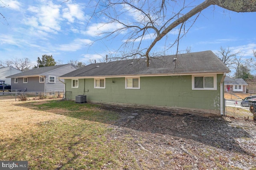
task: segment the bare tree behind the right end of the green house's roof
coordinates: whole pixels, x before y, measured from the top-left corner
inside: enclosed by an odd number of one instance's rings
[[[237,63],[236,55],[239,53],[241,52],[238,51],[237,53],[232,53],[229,47],[227,49],[220,47],[220,51],[215,54],[228,68],[232,68],[233,65]]]

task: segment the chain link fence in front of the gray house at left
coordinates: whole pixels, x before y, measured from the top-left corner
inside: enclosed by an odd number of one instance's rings
[[[0,92],[0,100],[10,101],[26,101],[26,100],[40,100],[63,98],[64,92],[47,91],[47,92]]]

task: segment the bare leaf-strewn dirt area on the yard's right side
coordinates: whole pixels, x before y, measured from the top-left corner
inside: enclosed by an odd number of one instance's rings
[[[253,121],[110,105],[101,108],[119,113],[108,139],[129,145],[141,169],[256,168]]]

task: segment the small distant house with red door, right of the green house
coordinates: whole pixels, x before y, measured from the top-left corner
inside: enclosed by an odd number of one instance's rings
[[[246,86],[248,84],[242,78],[230,78],[226,77],[224,80],[224,89],[228,92],[242,92],[246,93]]]

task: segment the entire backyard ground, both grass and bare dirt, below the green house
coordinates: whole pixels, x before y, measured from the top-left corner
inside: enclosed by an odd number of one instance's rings
[[[0,98],[0,160],[29,170],[256,170],[256,123],[178,111]],[[241,113],[240,113],[241,112]]]

